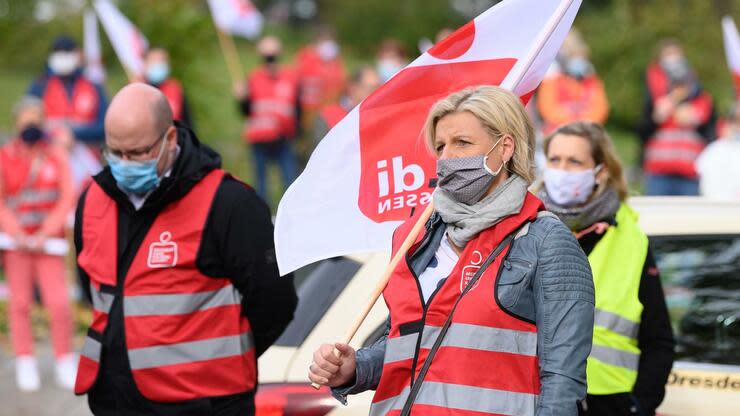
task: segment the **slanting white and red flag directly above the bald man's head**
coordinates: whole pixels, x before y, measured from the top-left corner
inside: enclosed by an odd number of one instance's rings
[[[144,54],[149,47],[144,35],[110,0],[95,0],[94,6],[121,64],[132,75],[142,75]]]

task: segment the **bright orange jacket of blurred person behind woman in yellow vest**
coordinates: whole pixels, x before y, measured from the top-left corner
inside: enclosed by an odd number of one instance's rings
[[[604,123],[609,115],[609,102],[604,84],[598,76],[577,80],[566,74],[555,74],[542,81],[537,106],[544,121],[544,134],[574,121]]]

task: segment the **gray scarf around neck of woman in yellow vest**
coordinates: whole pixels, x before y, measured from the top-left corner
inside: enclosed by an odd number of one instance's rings
[[[556,204],[547,195],[545,187],[542,187],[537,196],[545,204],[545,208],[557,215],[572,231],[581,231],[599,221],[613,217],[620,204],[617,191],[611,188],[585,205],[578,207],[564,207]]]

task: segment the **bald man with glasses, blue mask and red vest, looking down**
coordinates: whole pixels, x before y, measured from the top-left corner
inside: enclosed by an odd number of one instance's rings
[[[75,392],[96,415],[253,414],[256,359],[297,303],[269,209],[152,86],[114,97],[105,136],[76,212],[93,322]]]

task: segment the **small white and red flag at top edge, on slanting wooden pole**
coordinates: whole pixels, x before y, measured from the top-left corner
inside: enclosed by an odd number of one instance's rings
[[[208,0],[216,26],[222,32],[254,39],[262,32],[262,14],[249,0]]]

